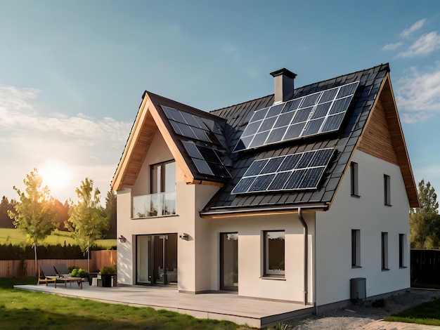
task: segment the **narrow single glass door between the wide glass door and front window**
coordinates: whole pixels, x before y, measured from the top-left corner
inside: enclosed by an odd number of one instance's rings
[[[220,234],[220,289],[238,290],[238,233]]]

